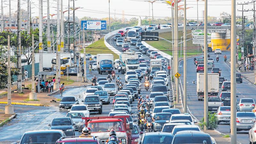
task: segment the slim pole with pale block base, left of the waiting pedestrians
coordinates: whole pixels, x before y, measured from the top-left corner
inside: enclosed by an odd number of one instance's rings
[[[34,34],[32,34],[32,91],[29,93],[29,100],[37,100],[37,94],[35,92],[35,54],[34,54]]]

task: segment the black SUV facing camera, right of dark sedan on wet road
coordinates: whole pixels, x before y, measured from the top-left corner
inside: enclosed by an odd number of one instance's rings
[[[84,102],[90,112],[102,113],[102,100],[100,100],[100,96],[88,95],[82,102]]]

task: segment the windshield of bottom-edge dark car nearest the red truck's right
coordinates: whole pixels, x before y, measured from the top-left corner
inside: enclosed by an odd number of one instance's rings
[[[157,143],[157,144],[169,144],[173,139],[172,135],[146,135],[143,140],[143,144]]]

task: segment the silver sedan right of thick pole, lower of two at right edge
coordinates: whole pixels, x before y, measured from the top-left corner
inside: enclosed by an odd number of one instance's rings
[[[253,112],[236,112],[236,131],[248,131],[252,128],[256,120],[256,116]],[[230,129],[230,125],[229,125]]]

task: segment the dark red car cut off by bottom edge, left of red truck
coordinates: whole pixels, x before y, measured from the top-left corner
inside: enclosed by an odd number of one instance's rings
[[[56,142],[58,143],[93,143],[101,144],[98,138],[94,136],[72,136],[72,137],[61,137]]]

